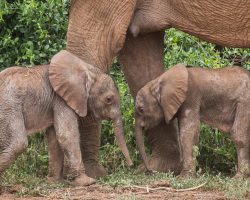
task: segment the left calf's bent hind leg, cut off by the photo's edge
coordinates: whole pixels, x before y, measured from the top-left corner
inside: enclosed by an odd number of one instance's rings
[[[10,120],[11,119],[11,120]],[[28,147],[28,138],[22,116],[0,119],[0,175]]]

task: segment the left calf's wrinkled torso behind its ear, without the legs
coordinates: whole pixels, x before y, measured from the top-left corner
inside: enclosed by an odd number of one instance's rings
[[[8,109],[12,117],[22,114],[28,133],[53,123],[55,93],[49,82],[48,66],[11,67],[0,73],[0,80],[0,109]]]

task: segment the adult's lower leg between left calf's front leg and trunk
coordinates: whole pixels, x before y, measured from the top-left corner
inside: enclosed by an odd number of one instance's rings
[[[100,178],[107,175],[106,170],[99,164],[99,148],[101,143],[101,124],[91,117],[79,119],[81,133],[81,151],[86,174]]]

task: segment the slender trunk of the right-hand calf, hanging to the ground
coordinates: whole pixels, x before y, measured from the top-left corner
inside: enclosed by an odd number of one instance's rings
[[[148,159],[145,151],[145,145],[144,145],[144,137],[142,133],[142,127],[140,123],[136,120],[135,123],[135,138],[136,138],[136,144],[138,146],[140,155],[142,157],[142,160],[145,164],[145,167],[148,171],[150,171],[149,164],[148,164]]]

